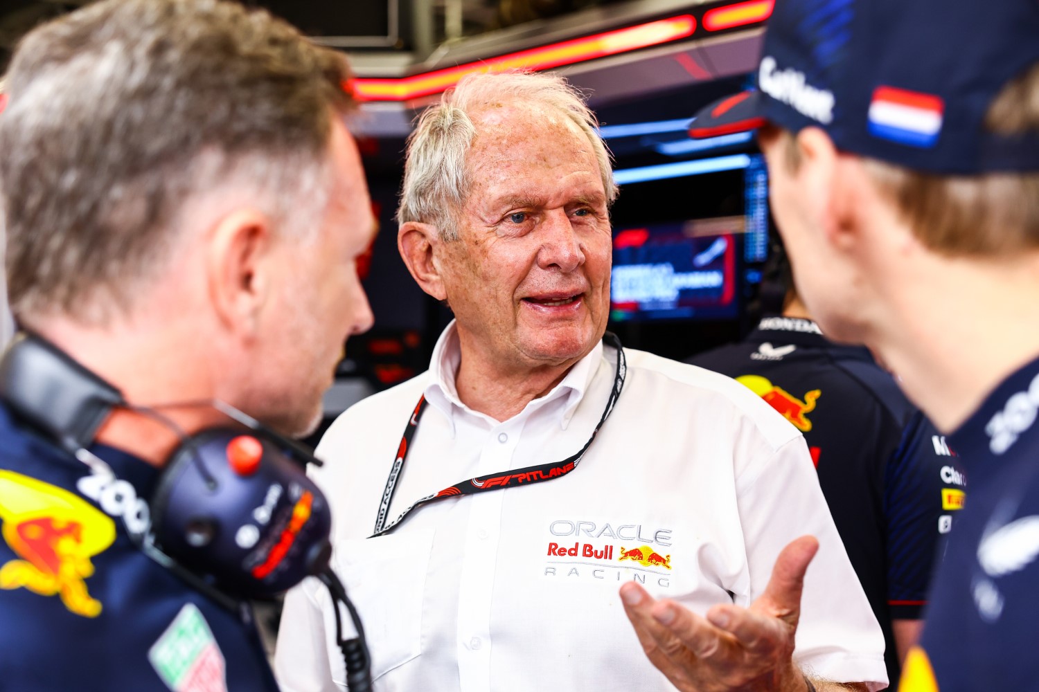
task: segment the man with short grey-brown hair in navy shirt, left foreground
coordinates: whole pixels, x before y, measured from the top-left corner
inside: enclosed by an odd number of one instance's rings
[[[74,456],[2,392],[0,689],[276,689],[248,610],[146,556],[149,502],[182,440],[227,424],[214,399],[312,430],[345,339],[371,324],[347,77],[341,55],[215,0],[90,4],[15,54],[2,225],[33,336],[12,350],[42,337],[63,365],[37,375],[129,405],[88,421]],[[56,416],[83,403],[20,393]]]

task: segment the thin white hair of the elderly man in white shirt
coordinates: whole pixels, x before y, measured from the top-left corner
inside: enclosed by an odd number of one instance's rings
[[[476,136],[471,114],[488,103],[502,101],[554,108],[581,128],[595,154],[607,201],[612,203],[616,199],[610,151],[598,135],[595,115],[580,91],[557,75],[477,74],[464,77],[444,94],[439,104],[427,108],[419,117],[407,142],[398,223],[430,223],[446,240],[458,237],[457,214],[472,186],[465,166],[465,157]]]

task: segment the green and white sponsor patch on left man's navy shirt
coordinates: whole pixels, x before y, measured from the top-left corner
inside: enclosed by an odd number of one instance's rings
[[[174,692],[227,692],[223,654],[202,611],[189,603],[148,651],[148,660]]]

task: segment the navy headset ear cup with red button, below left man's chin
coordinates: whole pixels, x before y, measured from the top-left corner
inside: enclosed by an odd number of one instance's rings
[[[252,463],[236,459],[243,441]],[[251,432],[213,428],[186,440],[160,476],[153,514],[167,556],[236,596],[274,596],[327,564],[324,495],[277,440]]]

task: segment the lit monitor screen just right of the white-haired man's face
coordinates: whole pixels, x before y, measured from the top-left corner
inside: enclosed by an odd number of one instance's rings
[[[761,155],[684,163],[697,172],[647,176],[622,188],[627,203],[618,200],[613,238],[614,323],[738,320],[761,281],[769,224]],[[630,223],[637,216],[648,222]]]

